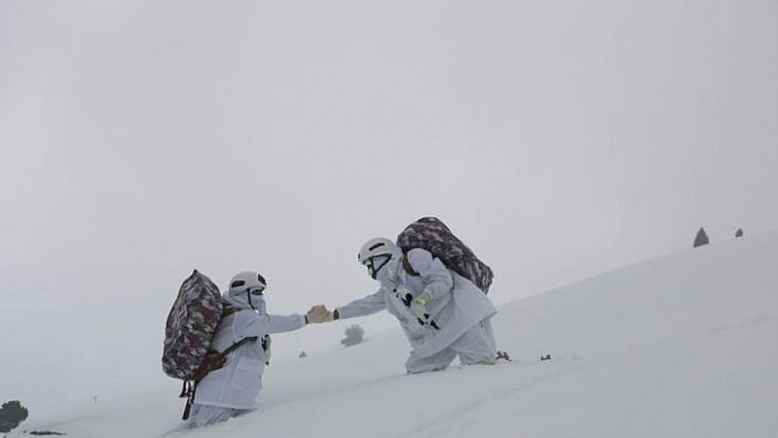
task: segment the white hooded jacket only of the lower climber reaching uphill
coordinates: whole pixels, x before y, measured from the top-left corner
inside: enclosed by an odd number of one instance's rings
[[[211,340],[211,349],[224,351],[244,337],[257,336],[230,355],[223,368],[211,371],[197,385],[194,403],[234,409],[251,409],[262,390],[265,371],[265,351],[259,339],[264,335],[297,330],[305,325],[304,315],[268,315],[262,299],[258,311],[244,306],[241,311],[222,317]],[[225,301],[234,304],[234,299]]]

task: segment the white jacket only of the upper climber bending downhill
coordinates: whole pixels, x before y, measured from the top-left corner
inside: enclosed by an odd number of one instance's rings
[[[419,276],[409,274],[402,267],[402,251],[398,248],[391,260],[378,271],[381,284],[377,292],[337,307],[342,319],[370,315],[387,310],[400,322],[413,351],[432,356],[451,346],[459,336],[497,313],[486,294],[471,281],[447,269],[441,260],[420,248],[408,252],[408,261]],[[394,288],[404,285],[413,296],[423,291],[432,295],[426,308],[440,326],[421,325],[394,294]]]

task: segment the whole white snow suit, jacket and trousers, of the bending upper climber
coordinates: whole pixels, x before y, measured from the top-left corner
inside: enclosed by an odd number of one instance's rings
[[[402,258],[419,276],[411,276]],[[376,280],[377,292],[337,307],[342,319],[370,315],[387,310],[400,323],[411,345],[405,362],[408,372],[426,372],[448,367],[456,356],[463,364],[494,363],[497,349],[489,318],[497,308],[473,282],[447,269],[429,251],[415,248],[407,256],[396,248],[391,260],[381,268]],[[432,295],[426,310],[440,329],[420,324],[409,307],[396,295],[404,285],[413,296],[423,291]]]

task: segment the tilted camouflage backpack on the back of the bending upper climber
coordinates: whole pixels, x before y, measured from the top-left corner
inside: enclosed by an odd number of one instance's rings
[[[413,248],[422,248],[441,259],[446,268],[470,280],[484,293],[489,292],[489,287],[494,273],[454,233],[437,217],[422,217],[408,225],[397,236],[397,246],[404,254]],[[413,271],[408,259],[403,258],[403,267],[411,276]]]

